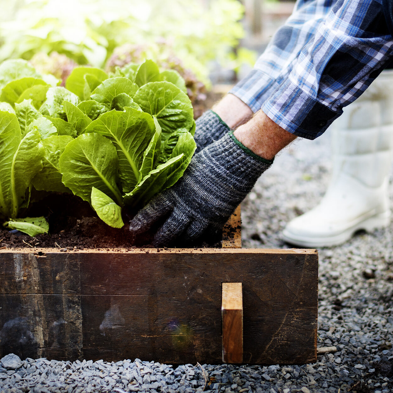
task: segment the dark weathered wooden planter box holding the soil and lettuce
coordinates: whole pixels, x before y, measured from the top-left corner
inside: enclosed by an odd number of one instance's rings
[[[0,357],[217,364],[224,343],[228,362],[316,361],[317,252],[229,248],[240,242],[238,231],[222,249],[0,250]],[[241,283],[242,302],[224,309],[222,283]]]

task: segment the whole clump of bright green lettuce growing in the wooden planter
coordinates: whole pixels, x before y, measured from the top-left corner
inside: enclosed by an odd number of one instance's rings
[[[184,80],[147,60],[110,75],[78,67],[60,83],[20,59],[0,65],[0,216],[31,236],[48,232],[43,217],[19,217],[34,187],[73,193],[121,228],[125,205],[143,206],[191,161]]]

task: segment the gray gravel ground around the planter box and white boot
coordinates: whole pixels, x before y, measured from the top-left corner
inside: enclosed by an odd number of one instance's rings
[[[276,158],[242,206],[243,246],[285,248],[286,222],[318,203],[329,182],[329,137],[299,141]],[[393,187],[391,187],[393,194]],[[393,199],[393,198],[392,198]],[[318,346],[314,364],[162,365],[124,360],[57,362],[7,356],[1,392],[393,392],[393,226],[358,233],[320,252]]]

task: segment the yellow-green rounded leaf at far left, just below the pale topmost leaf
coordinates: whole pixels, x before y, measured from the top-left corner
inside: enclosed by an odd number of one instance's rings
[[[46,100],[46,93],[49,87],[42,79],[18,79],[4,86],[0,100],[15,105],[15,103],[20,103],[24,99],[31,99],[35,108],[38,109]]]

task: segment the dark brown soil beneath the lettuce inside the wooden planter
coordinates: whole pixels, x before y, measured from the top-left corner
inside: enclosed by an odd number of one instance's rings
[[[124,209],[125,210],[125,209]],[[85,248],[152,248],[151,242],[154,229],[162,222],[158,222],[150,233],[134,237],[128,222],[136,212],[126,211],[123,214],[125,225],[121,229],[111,228],[101,221],[90,205],[73,195],[47,195],[39,202],[31,203],[27,217],[44,216],[49,222],[49,233],[30,237],[24,233],[12,233],[7,228],[0,228],[0,248],[45,247],[59,249]],[[221,247],[221,234],[214,242],[200,241],[198,244],[169,244],[168,246],[204,246]],[[63,250],[65,251],[65,250]]]

